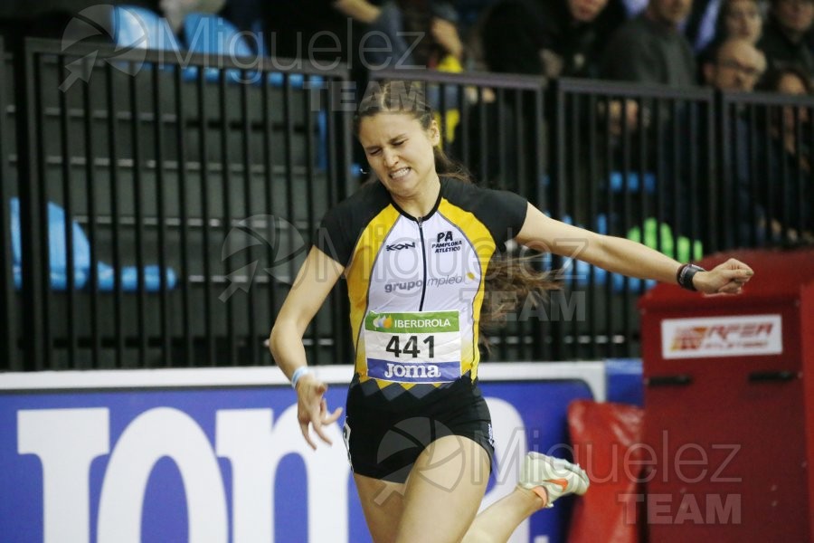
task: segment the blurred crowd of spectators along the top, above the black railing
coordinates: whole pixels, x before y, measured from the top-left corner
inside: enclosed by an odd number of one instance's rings
[[[111,4],[106,0],[106,4]],[[489,71],[668,85],[724,92],[810,95],[814,0],[131,0],[166,18],[183,40],[188,14],[218,14],[251,33],[258,53],[343,64],[356,81],[382,68]],[[0,5],[6,42],[59,38],[91,0],[10,0]],[[484,93],[477,100],[494,100]],[[641,109],[641,111],[640,111]],[[614,126],[636,131],[648,114],[637,100],[608,104]],[[763,119],[769,178],[794,177],[780,197],[755,197],[753,128],[736,119],[743,156],[734,157],[744,217],[787,237],[814,239],[810,108],[784,107]],[[477,113],[476,113],[477,114]],[[743,125],[743,126],[740,126]],[[473,123],[473,126],[478,126]],[[616,130],[617,132],[619,130]],[[804,135],[809,135],[805,137]],[[753,154],[753,153],[752,153]],[[680,165],[679,165],[680,166]],[[487,172],[476,172],[488,177]],[[752,183],[752,184],[751,184]],[[805,194],[803,194],[803,191]],[[802,203],[791,205],[790,203]],[[777,209],[772,209],[777,207]],[[781,209],[782,207],[785,210]],[[790,211],[789,211],[790,209]],[[783,220],[777,217],[783,216]],[[801,232],[782,224],[797,224]],[[745,229],[752,229],[743,220]],[[788,230],[788,231],[787,231]]]

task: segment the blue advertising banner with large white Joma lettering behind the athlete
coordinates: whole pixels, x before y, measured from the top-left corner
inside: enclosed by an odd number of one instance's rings
[[[319,368],[328,407],[351,367]],[[565,412],[603,399],[601,363],[484,364],[496,465],[484,507],[525,452],[569,456]],[[276,368],[0,376],[0,534],[15,543],[367,542],[342,441],[312,451]],[[382,499],[386,500],[386,496]],[[570,501],[515,543],[564,540]]]

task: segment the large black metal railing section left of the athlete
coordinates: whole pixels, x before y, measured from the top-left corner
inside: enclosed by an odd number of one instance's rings
[[[24,356],[6,367],[267,363],[310,231],[349,190],[347,115],[317,107],[346,71],[272,80],[268,63],[224,58],[213,77],[211,55],[38,40],[24,61],[20,310],[4,304]],[[78,69],[88,82],[60,89]],[[336,294],[309,330],[316,363],[349,349],[333,326],[345,305]]]

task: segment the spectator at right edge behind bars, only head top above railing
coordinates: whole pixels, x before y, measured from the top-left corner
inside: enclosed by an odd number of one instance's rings
[[[811,96],[809,74],[787,64],[771,71],[762,90]],[[814,186],[809,145],[811,106],[774,107],[769,111],[769,143],[763,147],[766,175],[760,197],[768,208],[771,237],[784,243],[814,243]]]

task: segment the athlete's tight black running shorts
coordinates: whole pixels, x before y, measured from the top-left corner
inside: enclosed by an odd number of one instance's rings
[[[407,481],[424,448],[446,435],[460,435],[478,443],[488,453],[491,465],[495,454],[491,416],[469,374],[439,388],[419,385],[412,392],[402,389],[395,397],[387,397],[387,388],[366,388],[355,381],[348,390],[344,436],[355,473],[384,481]]]

